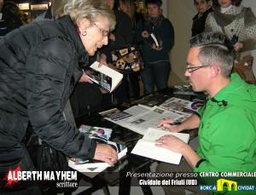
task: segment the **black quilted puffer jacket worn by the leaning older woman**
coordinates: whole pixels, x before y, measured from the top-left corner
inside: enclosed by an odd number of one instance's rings
[[[79,61],[88,62],[70,16],[21,26],[1,39],[0,48],[0,171],[19,164],[32,169],[23,145],[28,123],[67,156],[93,158],[96,143],[61,113],[82,74]]]

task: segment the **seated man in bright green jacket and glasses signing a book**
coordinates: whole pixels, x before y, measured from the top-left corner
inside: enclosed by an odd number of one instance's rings
[[[195,152],[172,135],[160,137],[156,146],[181,153],[185,160],[179,165],[160,163],[157,172],[195,172],[201,181],[199,185],[217,185],[218,177],[203,177],[200,173],[256,171],[256,86],[245,83],[236,73],[230,75],[234,58],[234,47],[221,32],[203,32],[192,37],[185,76],[195,92],[207,92],[207,103],[182,124],[170,125],[173,119],[167,118],[160,120],[158,127],[172,132],[199,128],[199,148]],[[236,181],[239,185],[255,185],[251,178]],[[185,194],[182,186],[163,188],[166,194]],[[200,192],[198,186],[186,188],[197,194],[212,194]],[[227,191],[224,186],[221,194]]]

